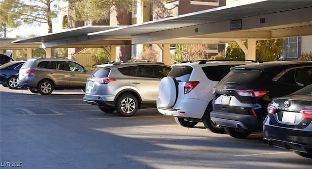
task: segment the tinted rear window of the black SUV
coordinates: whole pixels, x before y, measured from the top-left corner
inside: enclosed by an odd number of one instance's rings
[[[229,74],[219,82],[219,84],[227,85],[229,83],[237,83],[241,85],[248,85],[257,83],[260,79],[261,70],[232,70]],[[262,79],[262,78],[261,78]]]

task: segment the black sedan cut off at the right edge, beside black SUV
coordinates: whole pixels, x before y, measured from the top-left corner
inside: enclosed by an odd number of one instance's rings
[[[312,158],[312,84],[274,98],[263,122],[264,141]]]

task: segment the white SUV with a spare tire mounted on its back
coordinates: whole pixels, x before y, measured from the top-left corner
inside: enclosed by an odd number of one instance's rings
[[[206,129],[222,133],[223,127],[210,120],[213,110],[213,87],[233,66],[251,63],[245,60],[198,60],[172,65],[167,77],[161,79],[156,101],[159,113],[175,117],[183,127],[203,122]]]

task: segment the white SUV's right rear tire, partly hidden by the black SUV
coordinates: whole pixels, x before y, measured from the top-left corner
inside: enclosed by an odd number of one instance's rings
[[[216,125],[210,119],[210,112],[213,111],[212,105],[209,105],[203,116],[203,123],[207,130],[215,133],[224,133],[224,127]]]

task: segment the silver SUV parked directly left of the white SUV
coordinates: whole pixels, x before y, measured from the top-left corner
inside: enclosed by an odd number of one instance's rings
[[[158,85],[171,67],[160,62],[111,62],[97,65],[88,78],[83,101],[105,113],[132,116],[138,109],[156,108]]]

